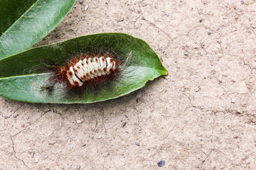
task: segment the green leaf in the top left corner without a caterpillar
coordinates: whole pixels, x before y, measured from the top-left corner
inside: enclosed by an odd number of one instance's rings
[[[75,0],[0,0],[0,59],[35,45],[74,4]]]

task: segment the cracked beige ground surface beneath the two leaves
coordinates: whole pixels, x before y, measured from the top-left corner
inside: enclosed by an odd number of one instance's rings
[[[255,169],[255,9],[254,0],[77,1],[38,45],[128,33],[169,75],[90,105],[0,98],[0,169]]]

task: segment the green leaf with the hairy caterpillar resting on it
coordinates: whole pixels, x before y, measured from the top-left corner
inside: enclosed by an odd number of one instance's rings
[[[42,91],[50,73],[41,60],[62,65],[77,54],[107,50],[127,61],[122,72],[109,84],[80,94],[68,93],[55,84],[52,92]],[[43,68],[43,69],[39,69]],[[142,88],[146,81],[167,74],[156,53],[143,40],[123,33],[102,33],[36,47],[0,60],[0,96],[33,103],[92,103],[124,96]]]

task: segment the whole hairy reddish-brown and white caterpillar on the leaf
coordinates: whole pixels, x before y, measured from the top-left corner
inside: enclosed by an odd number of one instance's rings
[[[65,66],[53,64],[53,85],[44,89],[53,89],[56,83],[67,82],[68,89],[92,88],[110,80],[119,74],[119,60],[109,52],[85,53],[73,58]]]

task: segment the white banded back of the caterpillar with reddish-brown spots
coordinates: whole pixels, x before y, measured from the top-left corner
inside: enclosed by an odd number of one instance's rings
[[[70,66],[67,77],[71,85],[82,86],[84,81],[110,74],[114,69],[116,64],[112,57],[88,57]]]

